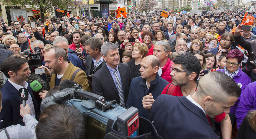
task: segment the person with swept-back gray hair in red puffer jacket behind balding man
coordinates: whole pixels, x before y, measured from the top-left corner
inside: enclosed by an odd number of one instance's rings
[[[168,42],[160,40],[155,43],[153,55],[156,56],[160,61],[158,69],[158,75],[169,83],[172,82],[172,76],[170,76],[171,67],[173,62],[169,58],[171,52],[171,46]]]

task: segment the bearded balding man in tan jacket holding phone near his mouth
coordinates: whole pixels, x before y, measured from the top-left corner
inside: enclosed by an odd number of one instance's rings
[[[46,50],[44,61],[46,62],[45,66],[39,68],[44,68],[44,74],[47,75],[46,78],[50,78],[50,89],[58,86],[62,80],[68,79],[82,85],[85,91],[89,91],[89,84],[85,72],[75,67],[70,61],[67,61],[67,53],[63,48],[55,46]],[[46,93],[42,93],[40,97],[44,98]]]

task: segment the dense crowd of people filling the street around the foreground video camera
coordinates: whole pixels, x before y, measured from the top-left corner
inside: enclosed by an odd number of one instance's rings
[[[39,19],[35,27],[32,21],[0,22],[0,136],[84,138],[76,109],[39,109],[67,79],[137,108],[163,138],[255,138],[256,66],[247,65],[256,64],[256,21],[242,30],[243,18],[243,11],[224,11],[65,16]],[[27,51],[40,52],[41,66],[31,67]],[[35,80],[42,90],[30,87]],[[18,99],[23,87],[29,94],[24,107]]]

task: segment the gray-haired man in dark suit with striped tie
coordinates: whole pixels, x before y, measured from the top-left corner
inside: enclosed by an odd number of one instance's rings
[[[102,65],[93,74],[92,91],[105,97],[107,101],[116,100],[118,104],[125,106],[131,82],[129,65],[119,63],[118,46],[113,43],[104,43],[101,53],[106,65]]]

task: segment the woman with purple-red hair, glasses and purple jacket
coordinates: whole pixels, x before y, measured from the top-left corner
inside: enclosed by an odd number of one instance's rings
[[[221,71],[231,78],[234,79],[234,81],[238,84],[238,86],[241,88],[241,94],[243,94],[243,90],[245,89],[246,85],[251,83],[251,78],[244,72],[242,72],[240,65],[243,60],[243,53],[238,49],[233,49],[228,51],[227,57],[226,57],[226,66],[224,69],[219,69],[217,71]],[[236,124],[236,107],[240,101],[240,97],[230,108],[229,116],[231,119],[232,127]],[[240,126],[241,121],[237,123],[238,127]]]

